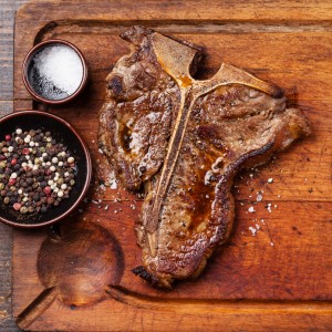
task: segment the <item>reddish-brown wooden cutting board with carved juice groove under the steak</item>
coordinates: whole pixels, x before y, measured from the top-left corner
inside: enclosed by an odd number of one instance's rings
[[[42,108],[21,79],[28,51],[51,38],[77,45],[90,66],[90,84],[74,103],[49,111],[72,123],[87,143],[94,181],[89,201],[61,224],[61,239],[53,234],[50,240],[49,229],[14,231],[19,325],[33,331],[331,331],[331,20],[330,1],[42,0],[22,7],[15,20],[14,108]],[[238,176],[230,240],[198,280],[172,291],[153,289],[131,272],[141,263],[134,224],[142,201],[121,187],[103,186],[110,174],[98,152],[97,113],[107,73],[128,52],[118,33],[133,24],[205,46],[206,77],[222,61],[274,82],[312,126],[309,138],[268,166]],[[42,261],[43,270],[52,270],[60,284],[48,289],[37,271],[46,238],[54,255]],[[106,268],[98,267],[103,256],[111,261]]]

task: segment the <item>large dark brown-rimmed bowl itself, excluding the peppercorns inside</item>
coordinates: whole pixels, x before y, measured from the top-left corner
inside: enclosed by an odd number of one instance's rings
[[[0,141],[6,134],[11,134],[15,128],[22,131],[42,129],[50,132],[58,143],[63,143],[75,158],[77,173],[75,185],[70,197],[63,199],[58,207],[46,214],[20,215],[12,207],[7,207],[0,201],[0,220],[11,226],[21,228],[35,228],[54,224],[71,214],[83,199],[91,181],[92,166],[89,151],[76,131],[63,118],[39,111],[21,111],[0,118]]]

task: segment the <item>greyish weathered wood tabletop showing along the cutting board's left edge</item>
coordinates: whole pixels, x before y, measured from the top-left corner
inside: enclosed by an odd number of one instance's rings
[[[0,117],[13,110],[13,25],[27,0],[0,0]],[[11,310],[11,228],[0,224],[0,330],[18,331]]]

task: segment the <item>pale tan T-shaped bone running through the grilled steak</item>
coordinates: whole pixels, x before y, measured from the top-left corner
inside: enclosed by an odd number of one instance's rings
[[[222,63],[220,70],[210,80],[197,81],[190,75],[190,65],[197,54],[193,46],[180,43],[157,32],[153,33],[152,42],[158,63],[163,70],[177,82],[180,89],[180,106],[174,126],[174,132],[168,144],[167,155],[165,157],[159,181],[153,197],[152,212],[146,218],[146,229],[148,230],[148,240],[152,255],[155,252],[155,230],[158,228],[158,220],[163,199],[166,195],[172,175],[178,159],[179,151],[183,144],[184,135],[190,117],[195,101],[215,90],[220,85],[242,84],[263,91],[274,97],[281,96],[279,87],[268,84],[249,73],[239,70],[232,65]]]

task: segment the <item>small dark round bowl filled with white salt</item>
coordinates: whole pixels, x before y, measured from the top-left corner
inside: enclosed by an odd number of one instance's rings
[[[87,65],[82,52],[72,43],[52,39],[37,44],[25,56],[23,82],[34,100],[63,104],[84,89]]]

